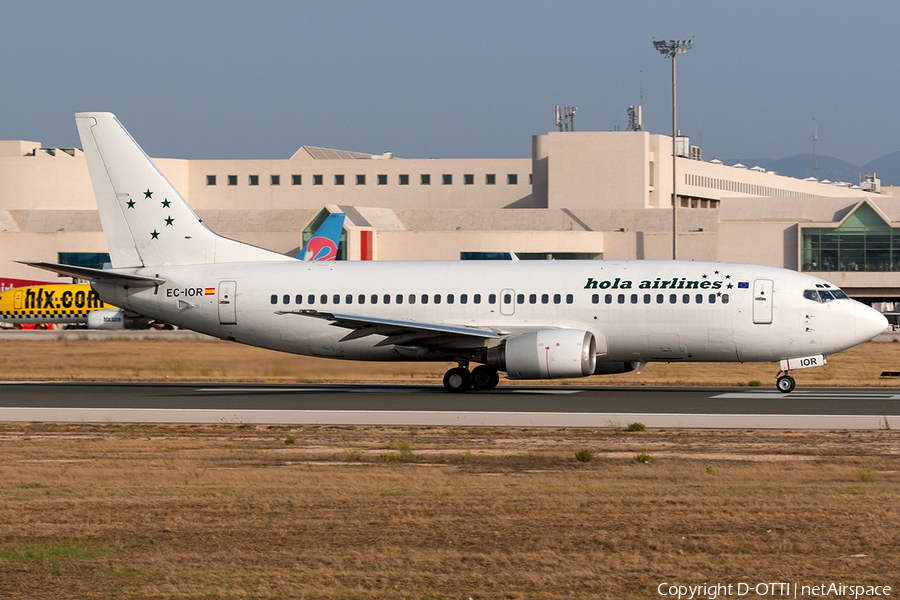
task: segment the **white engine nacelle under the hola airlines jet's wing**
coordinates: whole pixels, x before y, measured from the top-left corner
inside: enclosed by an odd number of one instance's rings
[[[580,329],[534,331],[507,338],[487,362],[510,379],[587,377],[597,366],[597,342]]]

